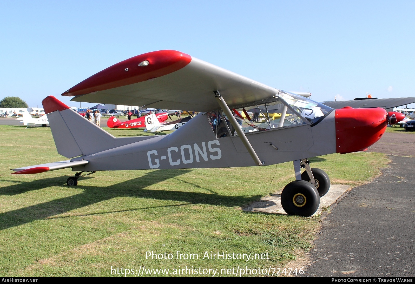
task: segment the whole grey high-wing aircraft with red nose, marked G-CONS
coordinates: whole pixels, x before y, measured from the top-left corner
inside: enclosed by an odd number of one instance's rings
[[[330,188],[327,174],[310,168],[307,158],[366,149],[380,139],[389,120],[381,108],[334,110],[173,50],[117,63],[62,95],[200,114],[168,135],[116,138],[49,96],[42,101],[44,110],[57,150],[69,160],[12,169],[12,174],[72,168],[77,173],[67,184],[75,186],[83,172],[293,161],[296,180],[283,189],[281,203],[288,214],[302,216],[315,213]]]

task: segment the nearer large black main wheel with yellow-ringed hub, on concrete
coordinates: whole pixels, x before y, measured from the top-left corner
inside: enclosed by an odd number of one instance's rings
[[[281,193],[281,205],[288,215],[309,217],[320,205],[318,191],[307,181],[291,181]]]

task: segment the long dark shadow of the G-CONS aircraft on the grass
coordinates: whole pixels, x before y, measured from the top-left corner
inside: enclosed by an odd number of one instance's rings
[[[82,177],[79,179],[78,189],[83,189],[82,193],[68,196],[64,198],[55,199],[52,201],[35,204],[25,208],[20,208],[4,213],[0,213],[0,230],[12,228],[18,225],[30,223],[35,220],[43,220],[54,215],[65,213],[77,208],[85,207],[94,203],[109,200],[114,197],[141,197],[141,198],[152,198],[158,200],[171,200],[171,201],[182,201],[184,204],[178,204],[173,206],[181,206],[186,204],[210,204],[210,205],[223,205],[223,206],[244,206],[254,200],[258,200],[261,196],[225,196],[215,193],[212,190],[202,188],[198,185],[187,182],[197,186],[198,188],[205,189],[210,193],[200,192],[186,192],[178,190],[151,190],[144,189],[147,186],[157,184],[166,179],[177,179],[177,176],[186,174],[191,170],[186,169],[173,169],[173,170],[156,170],[144,174],[135,179],[123,181],[119,184],[111,186],[83,186]],[[23,182],[21,184],[14,184],[11,186],[5,186],[0,188],[0,194],[2,195],[15,195],[24,193],[31,190],[37,190],[46,188],[49,186],[62,186],[63,176],[54,177],[49,179],[41,179],[37,181]],[[166,206],[155,206],[156,207],[168,207]],[[122,212],[122,211],[134,211],[144,210],[153,207],[146,208],[134,208],[120,211],[100,211],[92,214],[102,214],[111,212]],[[82,215],[82,214],[80,214]],[[56,217],[56,218],[59,218]]]

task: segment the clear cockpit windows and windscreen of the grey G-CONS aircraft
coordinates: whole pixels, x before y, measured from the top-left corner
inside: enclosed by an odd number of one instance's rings
[[[278,90],[273,98],[254,105],[232,108],[232,114],[246,134],[285,127],[313,125],[332,108],[300,95]],[[222,110],[206,113],[217,138],[237,136]]]

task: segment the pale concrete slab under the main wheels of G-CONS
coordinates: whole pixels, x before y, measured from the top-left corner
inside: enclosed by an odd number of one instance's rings
[[[349,188],[351,188],[351,186],[331,184],[329,192],[320,198],[320,207],[316,213],[314,213],[314,215],[320,214],[325,208],[336,202],[336,200],[342,196],[343,193],[345,193]],[[281,194],[271,194],[270,196],[264,196],[261,198],[261,200],[251,203],[243,210],[251,212],[287,214],[281,206]]]

